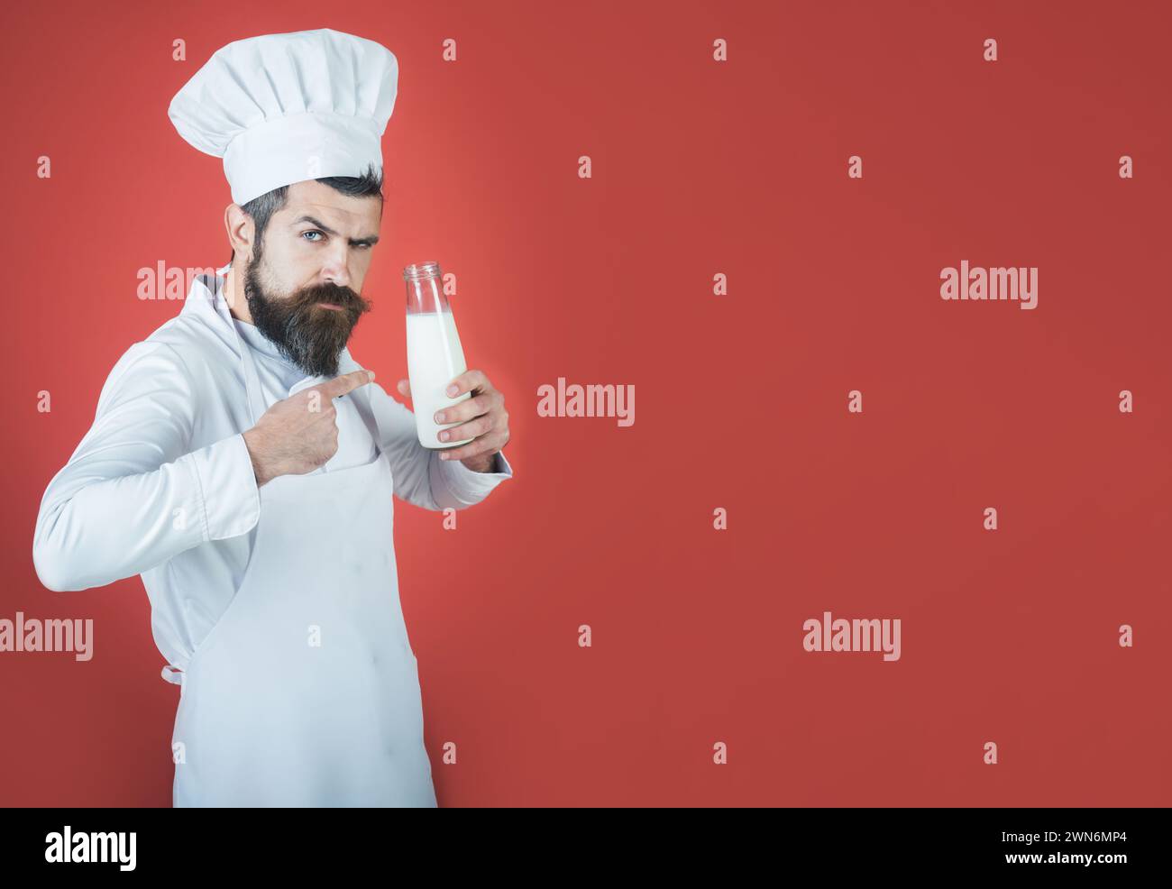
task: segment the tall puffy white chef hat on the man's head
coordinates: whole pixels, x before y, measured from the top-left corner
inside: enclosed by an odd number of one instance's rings
[[[217,49],[168,116],[224,158],[232,201],[281,185],[382,170],[398,61],[381,43],[331,28],[265,34]]]

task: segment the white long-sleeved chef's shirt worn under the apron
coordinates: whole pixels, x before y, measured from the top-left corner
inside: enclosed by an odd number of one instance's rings
[[[232,318],[223,293],[226,271],[196,278],[183,311],[115,364],[94,425],[45,491],[33,538],[38,577],[50,590],[84,590],[141,574],[155,643],[180,665],[234,596],[260,518],[243,435],[253,422],[241,339],[253,348],[266,409],[320,381]],[[342,350],[339,373],[360,367]],[[369,407],[376,430],[362,422],[352,399]],[[504,452],[489,473],[440,460],[440,452],[420,443],[415,415],[376,382],[335,407],[338,453],[316,473],[369,462],[376,432],[395,496],[424,509],[463,509],[512,477]]]

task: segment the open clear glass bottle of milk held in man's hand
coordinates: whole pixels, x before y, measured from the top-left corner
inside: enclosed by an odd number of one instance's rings
[[[415,430],[425,448],[448,449],[472,439],[440,441],[441,429],[456,423],[436,423],[436,412],[458,405],[472,393],[449,398],[449,384],[468,369],[456,332],[456,319],[440,286],[440,264],[420,263],[403,269],[407,283],[407,376],[415,405]],[[459,422],[466,422],[461,420]]]

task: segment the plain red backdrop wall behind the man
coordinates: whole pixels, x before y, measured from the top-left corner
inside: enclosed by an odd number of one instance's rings
[[[182,307],[137,270],[229,255],[171,96],[231,40],[318,27],[401,66],[352,351],[394,394],[400,270],[438,260],[511,415],[516,479],[458,531],[396,501],[442,806],[1172,802],[1167,11],[7,5],[0,617],[91,617],[95,657],[0,653],[2,802],[171,802],[141,579],[50,592],[33,527],[114,362]],[[941,300],[962,259],[1037,266],[1037,308]],[[633,384],[635,425],[539,418],[558,376]],[[901,659],[805,652],[824,610],[900,618]]]

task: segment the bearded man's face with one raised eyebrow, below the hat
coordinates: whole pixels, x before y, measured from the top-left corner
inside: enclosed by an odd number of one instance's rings
[[[381,217],[377,197],[298,182],[253,247],[244,273],[252,323],[307,375],[338,374],[350,332],[370,311],[359,293]]]

